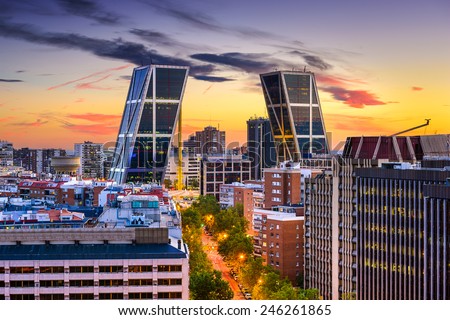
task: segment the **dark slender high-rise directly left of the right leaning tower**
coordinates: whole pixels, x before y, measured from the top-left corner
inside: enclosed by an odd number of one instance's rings
[[[269,119],[247,120],[247,155],[252,162],[251,178],[263,179],[263,170],[277,164],[275,143]]]

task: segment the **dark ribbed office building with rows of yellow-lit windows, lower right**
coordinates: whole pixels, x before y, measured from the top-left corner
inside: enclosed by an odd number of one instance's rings
[[[449,299],[446,193],[429,185],[450,172],[387,163],[356,176],[359,299]]]

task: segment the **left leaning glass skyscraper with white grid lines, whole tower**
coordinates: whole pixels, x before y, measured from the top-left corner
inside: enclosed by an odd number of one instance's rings
[[[109,178],[161,182],[180,114],[188,67],[134,69]]]

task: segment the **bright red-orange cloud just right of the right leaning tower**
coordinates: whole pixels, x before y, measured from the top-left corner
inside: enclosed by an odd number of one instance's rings
[[[343,101],[352,108],[362,109],[365,106],[379,106],[388,103],[379,100],[375,94],[365,90],[348,90],[339,87],[325,87],[322,90],[331,93],[334,99]]]

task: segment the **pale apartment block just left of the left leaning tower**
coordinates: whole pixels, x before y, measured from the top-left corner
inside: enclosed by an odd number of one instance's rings
[[[80,172],[84,178],[103,178],[104,173],[104,154],[103,144],[85,141],[83,143],[75,143],[75,156],[80,157]]]

